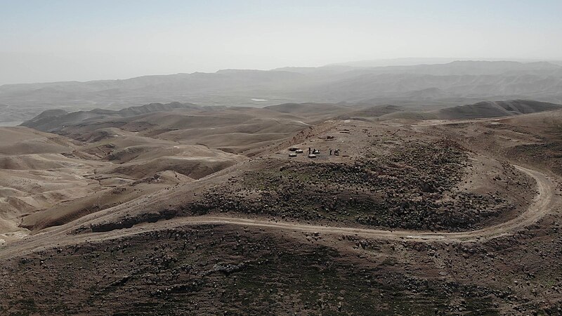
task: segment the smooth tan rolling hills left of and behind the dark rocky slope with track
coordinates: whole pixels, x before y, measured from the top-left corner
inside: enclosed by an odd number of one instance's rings
[[[204,178],[308,129],[301,119],[267,109],[170,103],[48,110],[23,126],[2,127],[9,141],[0,144],[1,239]]]

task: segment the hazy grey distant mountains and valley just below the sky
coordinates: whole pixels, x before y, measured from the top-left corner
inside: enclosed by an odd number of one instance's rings
[[[562,103],[562,66],[553,62],[457,60],[433,65],[327,65],[4,85],[0,86],[0,104],[7,110],[0,113],[0,121],[30,119],[52,108],[67,112],[96,107],[118,110],[173,101],[249,107],[365,100],[400,106],[450,106],[517,99]]]

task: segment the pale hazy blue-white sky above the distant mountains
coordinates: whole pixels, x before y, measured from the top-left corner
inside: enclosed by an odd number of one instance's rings
[[[404,57],[562,60],[562,0],[0,0],[0,84]]]

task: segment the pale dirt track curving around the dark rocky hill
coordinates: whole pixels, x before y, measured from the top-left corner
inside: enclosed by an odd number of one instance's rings
[[[182,225],[200,225],[200,224],[227,224],[254,226],[262,228],[270,228],[277,230],[292,230],[302,232],[322,232],[325,234],[342,234],[342,235],[359,235],[362,237],[371,237],[377,239],[414,239],[425,241],[443,241],[443,242],[473,242],[476,240],[490,239],[507,235],[525,226],[535,223],[552,209],[559,206],[560,198],[556,195],[556,184],[549,179],[547,175],[539,171],[515,166],[518,170],[528,174],[537,181],[537,195],[531,206],[521,213],[520,216],[508,220],[507,222],[492,225],[481,230],[472,230],[468,232],[421,232],[412,230],[374,230],[367,228],[348,228],[336,226],[320,226],[305,225],[294,222],[279,222],[275,220],[261,220],[251,218],[235,218],[226,216],[195,216],[173,218],[171,220],[162,220],[157,223],[145,223],[133,226],[133,228],[124,230],[112,230],[110,232],[85,233],[79,235],[69,235],[71,228],[60,228],[50,232],[44,232],[32,235],[22,239],[20,242],[8,244],[4,248],[0,248],[0,258],[9,258],[22,254],[30,254],[34,251],[47,249],[53,245],[79,244],[81,242],[95,242],[105,239],[115,239],[124,236],[136,235],[141,232],[151,230],[162,230],[166,228],[174,228]]]

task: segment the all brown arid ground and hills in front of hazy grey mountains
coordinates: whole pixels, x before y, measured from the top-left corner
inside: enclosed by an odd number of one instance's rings
[[[0,314],[561,315],[562,106],[454,104],[0,127]]]

